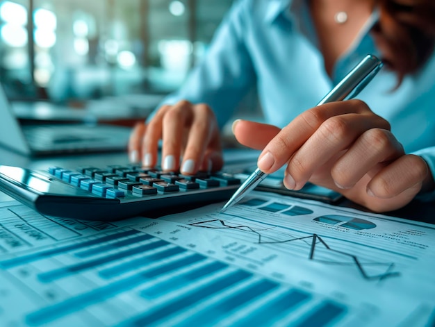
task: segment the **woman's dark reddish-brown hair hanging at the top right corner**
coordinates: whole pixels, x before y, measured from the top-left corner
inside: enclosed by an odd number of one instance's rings
[[[434,0],[375,0],[379,22],[372,35],[386,66],[397,72],[399,83],[418,71],[434,51]]]

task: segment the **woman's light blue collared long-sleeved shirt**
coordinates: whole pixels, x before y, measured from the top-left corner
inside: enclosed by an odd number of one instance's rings
[[[256,86],[265,122],[284,127],[315,106],[368,53],[379,56],[368,33],[374,13],[328,76],[306,2],[236,1],[204,60],[165,103],[207,103],[223,126]],[[397,89],[396,84],[395,73],[381,69],[358,99],[388,120],[405,151],[422,156],[435,176],[435,55]]]

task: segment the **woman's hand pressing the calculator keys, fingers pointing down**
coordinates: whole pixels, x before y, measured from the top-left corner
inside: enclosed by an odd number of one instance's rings
[[[205,104],[180,101],[161,107],[149,124],[136,124],[129,140],[130,161],[142,160],[145,167],[157,165],[159,140],[163,140],[161,167],[165,171],[195,174],[222,168],[219,128]]]

